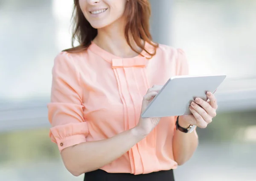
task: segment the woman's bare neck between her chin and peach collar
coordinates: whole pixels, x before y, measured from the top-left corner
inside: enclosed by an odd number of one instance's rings
[[[135,57],[138,54],[131,49],[125,39],[125,23],[123,22],[124,21],[120,18],[120,20],[117,20],[111,25],[98,29],[98,35],[93,42],[102,49],[118,57]],[[133,39],[131,43],[133,47],[136,47],[138,51],[141,51]]]

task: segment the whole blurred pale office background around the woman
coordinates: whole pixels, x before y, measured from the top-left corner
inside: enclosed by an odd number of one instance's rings
[[[218,116],[198,129],[177,181],[256,181],[256,0],[151,0],[159,43],[183,48],[193,75],[227,74]],[[70,47],[72,0],[0,0],[0,180],[81,181],[48,137],[53,59]]]

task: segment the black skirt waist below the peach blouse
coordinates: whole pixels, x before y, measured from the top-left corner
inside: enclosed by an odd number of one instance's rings
[[[174,181],[173,170],[163,170],[148,174],[108,173],[104,170],[87,172],[84,181]]]

